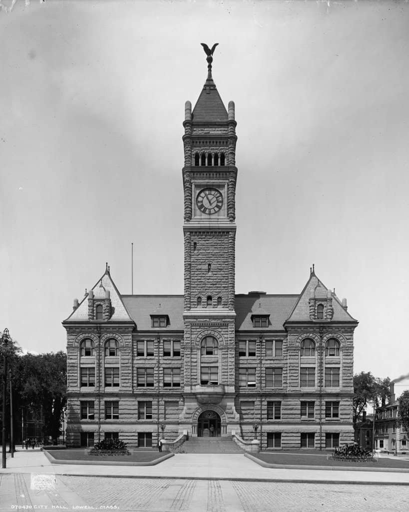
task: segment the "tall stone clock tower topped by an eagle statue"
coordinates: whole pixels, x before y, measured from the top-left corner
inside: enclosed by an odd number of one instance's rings
[[[233,101],[227,111],[212,78],[217,45],[211,50],[202,46],[208,77],[193,110],[186,102],[183,123],[183,419],[199,436],[206,435],[206,425],[200,423],[203,414],[217,418],[211,426],[218,435],[230,434],[238,422],[234,406],[236,121]]]

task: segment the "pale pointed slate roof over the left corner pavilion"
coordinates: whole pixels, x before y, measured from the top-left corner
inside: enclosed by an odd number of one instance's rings
[[[112,316],[109,318],[109,322],[132,322],[132,318],[122,301],[121,294],[115,283],[112,281],[108,268],[105,270],[102,278],[99,279],[96,285],[92,288],[94,291],[95,298],[103,298],[105,296],[105,290],[109,291]],[[102,295],[102,291],[104,292]],[[84,322],[88,321],[88,294],[82,299],[78,308],[71,313],[71,315],[64,320],[64,322]]]

